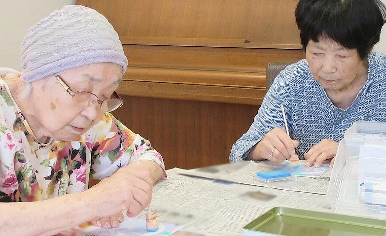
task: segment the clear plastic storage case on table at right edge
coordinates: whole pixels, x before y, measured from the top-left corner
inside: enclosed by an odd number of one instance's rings
[[[345,132],[327,198],[336,213],[386,219],[386,122],[357,121]]]

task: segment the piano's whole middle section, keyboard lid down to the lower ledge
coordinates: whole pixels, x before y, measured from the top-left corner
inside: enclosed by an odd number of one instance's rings
[[[261,104],[266,65],[301,50],[124,45],[130,66],[119,92],[144,97]]]

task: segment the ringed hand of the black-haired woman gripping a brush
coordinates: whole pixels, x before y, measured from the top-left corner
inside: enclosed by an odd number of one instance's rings
[[[272,162],[281,163],[295,155],[295,148],[298,145],[299,141],[292,140],[283,129],[276,127],[256,144],[247,159],[267,159]]]

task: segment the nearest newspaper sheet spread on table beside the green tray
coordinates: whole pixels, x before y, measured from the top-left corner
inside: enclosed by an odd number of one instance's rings
[[[157,182],[151,205],[161,221],[184,225],[183,232],[242,236],[246,224],[272,207],[317,209],[326,201],[319,194],[222,184],[175,174],[180,170],[168,172],[169,179]]]

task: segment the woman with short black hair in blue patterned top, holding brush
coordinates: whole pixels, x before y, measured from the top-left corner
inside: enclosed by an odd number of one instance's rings
[[[276,77],[229,159],[282,162],[296,153],[306,167],[326,159],[332,167],[355,121],[386,121],[386,56],[371,53],[385,15],[380,0],[300,0],[295,16],[306,60]]]

